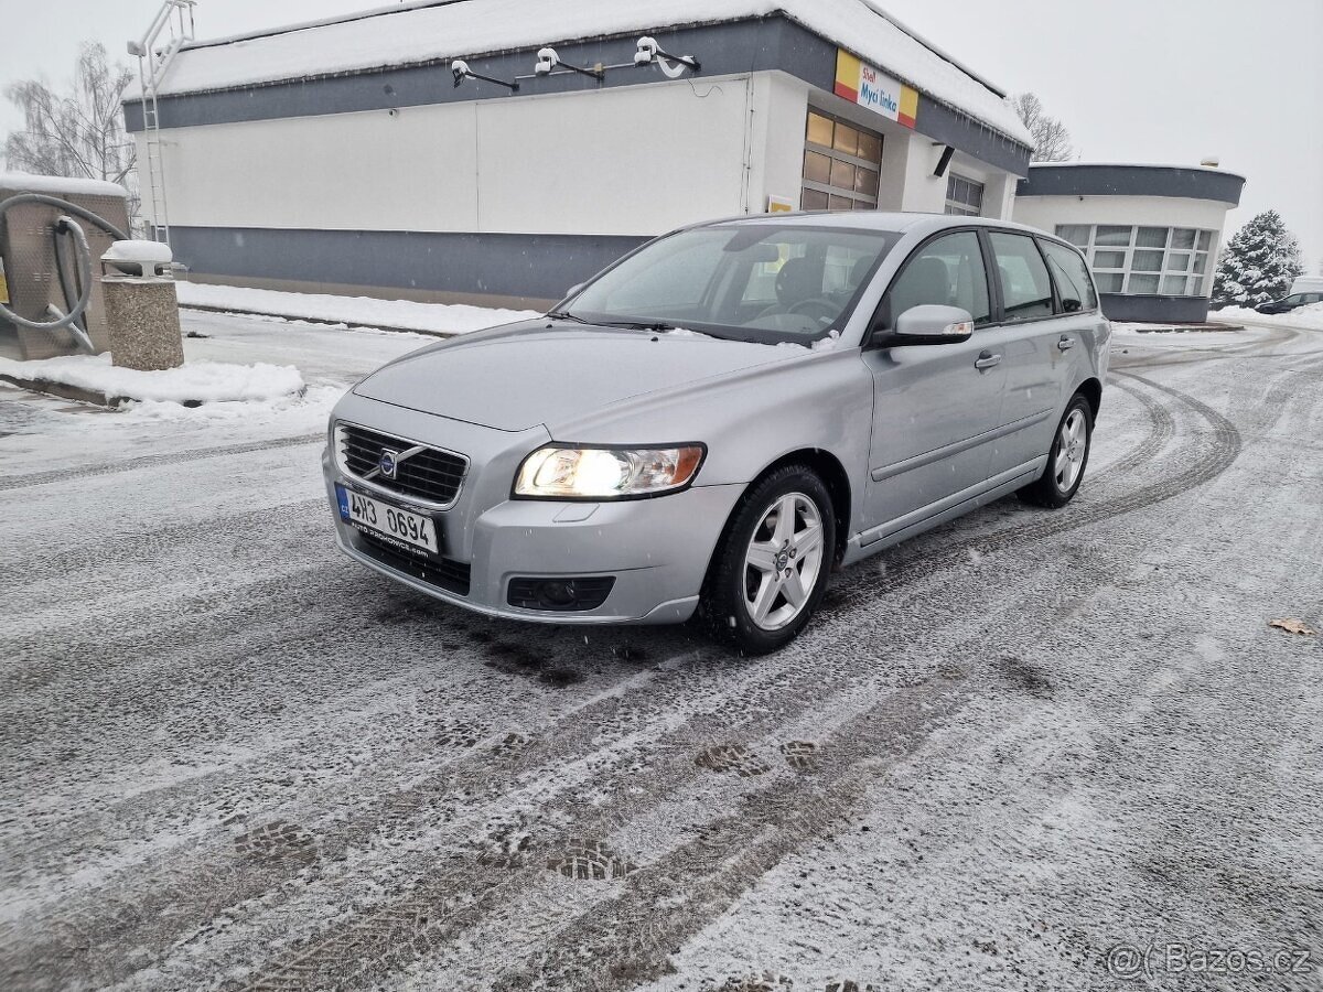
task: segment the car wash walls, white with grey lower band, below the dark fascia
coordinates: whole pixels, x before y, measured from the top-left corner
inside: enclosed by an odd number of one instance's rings
[[[799,206],[810,106],[884,135],[878,209],[945,209],[945,142],[775,70],[167,128],[171,239],[202,280],[541,306],[658,234]],[[951,168],[1007,216],[1011,172]]]

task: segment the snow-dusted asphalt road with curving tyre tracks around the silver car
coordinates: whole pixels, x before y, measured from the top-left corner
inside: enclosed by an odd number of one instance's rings
[[[308,399],[0,392],[0,987],[1323,989],[1323,333],[1125,339],[1070,508],[742,660],[343,559],[327,405],[422,341],[189,327]]]

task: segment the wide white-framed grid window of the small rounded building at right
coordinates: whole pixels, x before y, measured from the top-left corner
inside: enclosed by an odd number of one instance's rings
[[[1213,231],[1125,224],[1061,224],[1057,237],[1080,249],[1098,292],[1207,296]]]

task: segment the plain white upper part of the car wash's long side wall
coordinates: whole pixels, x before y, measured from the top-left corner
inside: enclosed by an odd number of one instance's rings
[[[652,235],[744,212],[753,89],[734,77],[172,128],[169,222]],[[771,82],[759,89],[770,101]]]

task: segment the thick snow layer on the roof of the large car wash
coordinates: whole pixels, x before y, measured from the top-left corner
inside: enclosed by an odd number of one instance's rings
[[[869,0],[430,0],[192,44],[176,56],[160,93],[234,89],[777,12],[1032,145],[1000,91]]]

